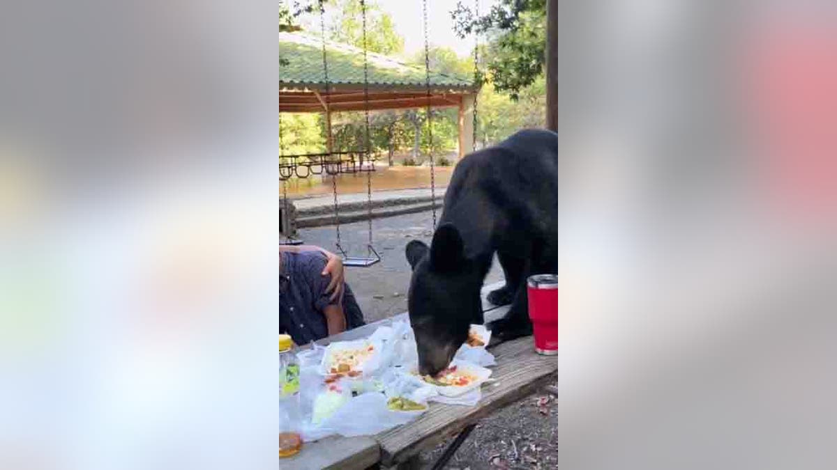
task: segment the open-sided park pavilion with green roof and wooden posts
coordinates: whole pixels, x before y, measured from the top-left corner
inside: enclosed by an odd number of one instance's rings
[[[326,146],[331,153],[331,113],[366,109],[363,50],[326,42],[329,93],[323,70],[322,42],[305,33],[279,33],[280,113],[318,113],[326,116]],[[367,53],[369,110],[422,109],[428,105],[426,70],[391,57]],[[472,79],[430,72],[430,105],[459,109],[459,155],[473,151],[474,103],[479,87]]]

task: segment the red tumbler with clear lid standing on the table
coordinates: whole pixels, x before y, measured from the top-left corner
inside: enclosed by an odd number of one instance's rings
[[[536,274],[526,279],[529,318],[535,336],[535,351],[558,354],[558,276]]]

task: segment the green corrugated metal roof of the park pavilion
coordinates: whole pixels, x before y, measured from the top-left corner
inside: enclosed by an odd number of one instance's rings
[[[322,64],[320,38],[302,33],[279,33],[280,58],[288,64],[279,68],[279,83],[289,87],[305,86],[322,89],[326,79]],[[347,44],[326,41],[328,81],[331,85],[363,85],[363,49]],[[403,64],[381,54],[367,53],[368,83],[393,89],[424,88],[425,69]],[[430,85],[434,89],[467,91],[474,89],[470,79],[431,70]]]

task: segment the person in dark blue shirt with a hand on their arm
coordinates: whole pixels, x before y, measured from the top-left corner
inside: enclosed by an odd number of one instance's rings
[[[315,246],[280,246],[279,332],[305,345],[365,324],[340,257]]]

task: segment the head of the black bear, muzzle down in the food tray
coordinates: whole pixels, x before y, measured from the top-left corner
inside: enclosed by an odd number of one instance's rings
[[[452,224],[439,226],[430,247],[413,240],[405,251],[413,267],[408,309],[419,347],[419,372],[435,375],[450,364],[480,316],[482,277],[465,257],[460,232]]]

